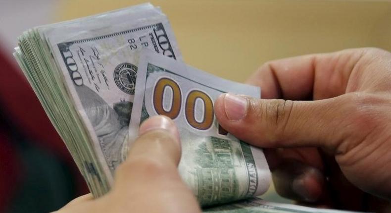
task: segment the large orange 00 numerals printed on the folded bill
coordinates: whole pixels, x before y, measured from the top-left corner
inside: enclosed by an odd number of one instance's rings
[[[163,97],[171,90],[170,107],[164,107]],[[196,102],[201,101],[203,105],[202,120],[196,119]],[[165,115],[171,119],[178,117],[182,107],[182,91],[179,85],[170,78],[160,78],[154,87],[153,91],[153,107],[158,114]],[[199,110],[198,110],[199,111]],[[210,97],[200,91],[192,90],[188,93],[185,99],[185,117],[190,126],[199,129],[207,130],[213,124],[213,102]]]

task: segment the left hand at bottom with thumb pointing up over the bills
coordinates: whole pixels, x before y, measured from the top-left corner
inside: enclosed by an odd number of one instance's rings
[[[117,168],[111,191],[98,199],[81,196],[58,213],[199,213],[196,198],[179,176],[180,157],[175,124],[164,116],[151,117]]]

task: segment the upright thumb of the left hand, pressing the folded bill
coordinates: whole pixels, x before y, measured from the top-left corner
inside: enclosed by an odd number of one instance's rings
[[[181,144],[174,122],[165,116],[151,117],[140,126],[139,135],[117,169],[116,182],[122,182],[122,177],[133,183],[131,178],[148,182],[161,174],[176,175]]]

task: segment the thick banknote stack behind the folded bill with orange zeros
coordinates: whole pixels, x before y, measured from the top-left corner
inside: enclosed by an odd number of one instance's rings
[[[135,52],[181,59],[167,17],[146,3],[35,27],[18,39],[19,65],[90,190],[105,194],[126,157]]]

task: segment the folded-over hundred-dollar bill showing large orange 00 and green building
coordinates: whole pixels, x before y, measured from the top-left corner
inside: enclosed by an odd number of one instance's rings
[[[148,50],[140,53],[130,141],[141,122],[162,114],[177,124],[182,141],[179,172],[202,206],[261,195],[271,174],[262,150],[227,133],[213,103],[226,92],[260,96],[260,89],[197,70]]]

